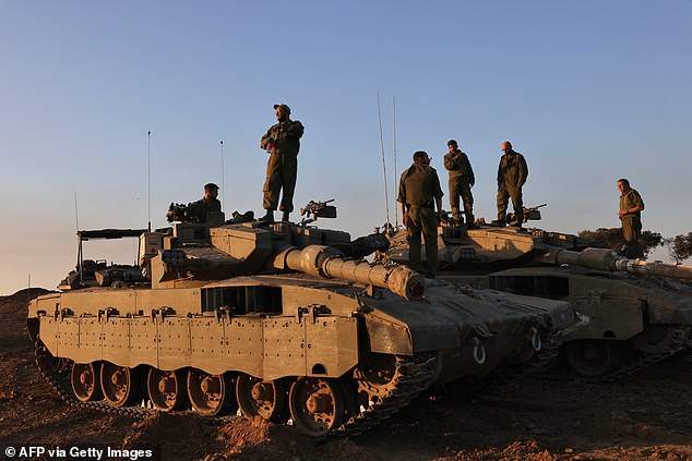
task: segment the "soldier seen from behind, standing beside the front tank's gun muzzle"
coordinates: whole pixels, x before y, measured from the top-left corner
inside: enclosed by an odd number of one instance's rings
[[[397,202],[406,226],[406,240],[411,268],[421,270],[420,234],[426,240],[428,277],[438,271],[438,218],[442,213],[442,189],[434,168],[430,167],[428,154],[414,154],[414,165],[402,173]],[[437,206],[437,213],[436,213]]]

